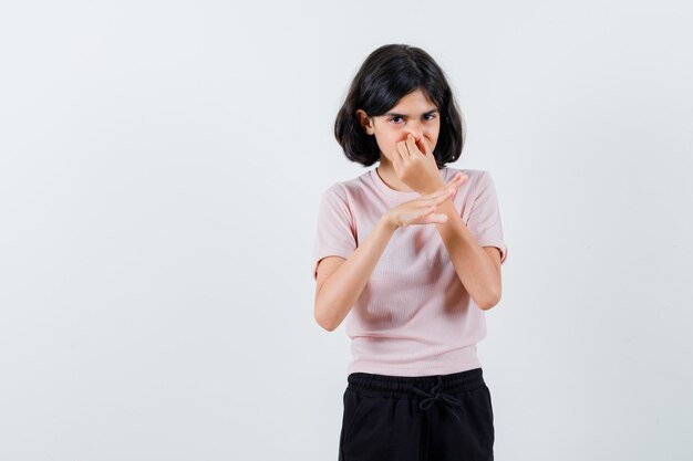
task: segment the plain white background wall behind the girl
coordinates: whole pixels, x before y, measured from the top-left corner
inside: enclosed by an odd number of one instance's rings
[[[687,4],[686,4],[687,3]],[[498,460],[692,459],[693,7],[0,3],[0,459],[335,460],[313,321],[332,134],[385,43],[431,53],[495,180],[479,343]]]

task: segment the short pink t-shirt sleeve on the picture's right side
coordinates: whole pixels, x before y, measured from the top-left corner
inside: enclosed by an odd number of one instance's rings
[[[496,187],[488,171],[482,171],[476,193],[469,211],[467,228],[480,247],[496,247],[500,250],[500,263],[507,259],[508,248],[503,238],[500,210]]]

